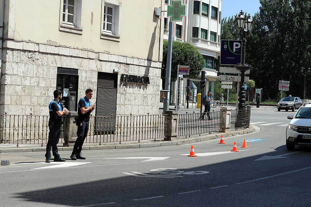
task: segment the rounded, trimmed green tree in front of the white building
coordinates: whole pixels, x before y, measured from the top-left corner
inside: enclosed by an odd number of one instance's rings
[[[163,61],[161,69],[161,78],[165,79],[166,75],[166,59],[167,59],[168,41],[163,41]],[[173,41],[172,43],[172,65],[171,65],[171,81],[177,79],[178,65],[189,65],[190,78],[197,78],[204,67],[205,61],[200,52],[197,51],[192,44],[187,42]],[[163,81],[165,83],[165,81]]]

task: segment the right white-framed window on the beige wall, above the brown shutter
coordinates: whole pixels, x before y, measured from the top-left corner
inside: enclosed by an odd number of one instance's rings
[[[100,38],[119,41],[121,3],[118,0],[102,0],[102,28]]]

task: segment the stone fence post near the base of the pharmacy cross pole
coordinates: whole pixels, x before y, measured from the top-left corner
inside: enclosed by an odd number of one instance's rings
[[[175,141],[178,136],[178,111],[165,111],[167,115],[167,130],[164,141]]]

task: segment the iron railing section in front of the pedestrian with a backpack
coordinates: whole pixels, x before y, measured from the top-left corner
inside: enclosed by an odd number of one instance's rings
[[[221,111],[179,114],[178,118],[178,137],[185,138],[219,132],[222,121]]]

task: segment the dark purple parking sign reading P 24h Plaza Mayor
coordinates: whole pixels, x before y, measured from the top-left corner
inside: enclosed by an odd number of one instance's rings
[[[236,65],[242,60],[242,40],[220,40],[220,65]]]

